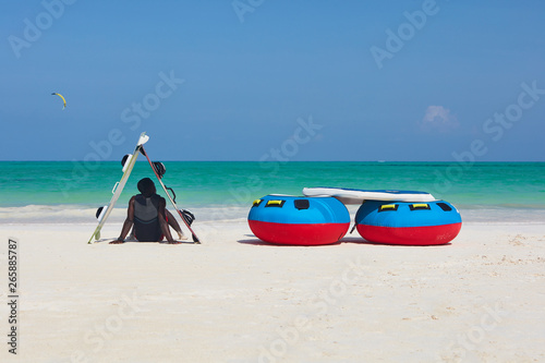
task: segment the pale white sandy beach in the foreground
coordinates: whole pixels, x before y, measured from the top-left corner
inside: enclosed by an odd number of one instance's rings
[[[449,245],[274,246],[245,221],[202,245],[3,225],[2,362],[545,361],[545,225],[465,223]],[[114,238],[120,226],[107,225]],[[19,242],[10,354],[8,239]]]

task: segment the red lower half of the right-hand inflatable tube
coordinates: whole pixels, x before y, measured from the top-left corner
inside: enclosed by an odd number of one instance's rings
[[[424,227],[378,227],[358,225],[358,232],[373,243],[435,245],[452,241],[462,223]]]

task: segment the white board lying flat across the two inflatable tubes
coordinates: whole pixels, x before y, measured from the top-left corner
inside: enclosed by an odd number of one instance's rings
[[[415,191],[370,191],[343,187],[304,187],[305,196],[334,196],[344,204],[362,204],[365,201],[433,202],[434,196]]]

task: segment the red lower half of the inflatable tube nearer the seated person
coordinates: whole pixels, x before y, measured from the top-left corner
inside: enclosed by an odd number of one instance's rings
[[[275,244],[320,245],[338,242],[350,223],[289,225],[249,220],[259,240]]]

